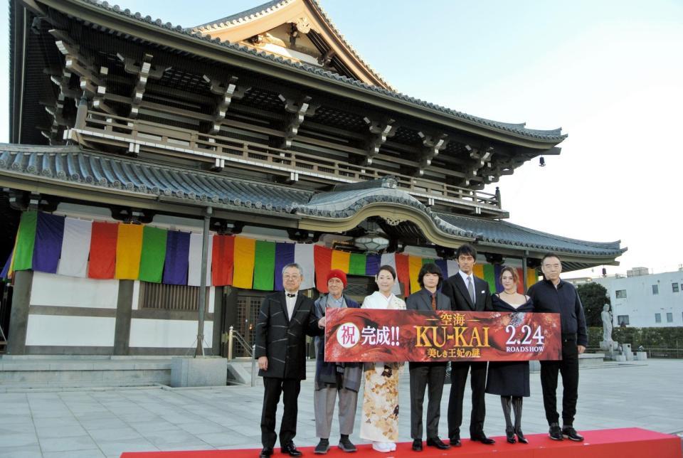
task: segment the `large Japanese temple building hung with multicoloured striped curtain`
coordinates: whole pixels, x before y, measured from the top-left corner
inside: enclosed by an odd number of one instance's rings
[[[292,261],[307,294],[338,267],[362,299],[381,263],[403,295],[423,262],[453,275],[464,243],[492,289],[501,265],[535,282],[548,251],[565,270],[625,251],[508,223],[485,191],[560,154],[560,129],[396,92],[315,0],[193,28],[107,1],[11,0],[9,35],[7,353],[225,355],[231,326],[252,342]]]

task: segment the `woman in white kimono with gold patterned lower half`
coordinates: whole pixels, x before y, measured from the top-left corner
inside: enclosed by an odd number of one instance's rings
[[[391,293],[396,270],[383,265],[375,276],[379,291],[366,297],[364,309],[405,310],[406,302]],[[361,438],[378,452],[393,452],[398,441],[398,369],[403,363],[365,363]]]

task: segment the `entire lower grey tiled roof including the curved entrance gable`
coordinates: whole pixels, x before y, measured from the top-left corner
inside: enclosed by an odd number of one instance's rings
[[[77,146],[45,147],[0,144],[0,176],[42,176],[46,180],[80,183],[93,188],[120,189],[144,195],[169,196],[189,205],[231,206],[239,211],[308,218],[349,218],[373,203],[391,203],[423,213],[440,232],[460,240],[481,240],[520,250],[568,252],[617,257],[619,242],[598,243],[565,238],[506,221],[435,212],[391,179],[339,190],[314,193],[274,183],[227,179],[221,174],[159,166],[141,159],[83,151]]]

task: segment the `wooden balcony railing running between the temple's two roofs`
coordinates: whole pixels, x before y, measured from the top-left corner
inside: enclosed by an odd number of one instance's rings
[[[116,122],[114,122],[116,121]],[[339,181],[357,182],[395,176],[398,187],[408,193],[416,193],[439,201],[457,199],[485,208],[500,209],[494,193],[462,188],[448,183],[396,174],[393,171],[370,166],[349,164],[345,161],[322,159],[313,154],[279,149],[264,144],[235,140],[221,135],[203,134],[181,127],[129,119],[117,115],[88,110],[82,130],[105,131],[125,142],[152,142],[164,148],[186,148],[192,151],[211,152],[212,156],[226,159],[240,158],[249,164],[267,164],[270,168],[298,169],[302,172],[329,176]],[[123,138],[127,136],[129,138]]]

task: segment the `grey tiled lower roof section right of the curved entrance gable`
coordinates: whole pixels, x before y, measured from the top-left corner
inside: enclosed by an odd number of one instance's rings
[[[532,250],[568,252],[578,255],[619,256],[626,251],[620,242],[588,242],[573,238],[544,233],[539,230],[500,220],[472,218],[470,216],[437,213],[440,218],[457,225],[463,230],[471,230],[480,235],[480,240],[495,245],[531,248]]]

